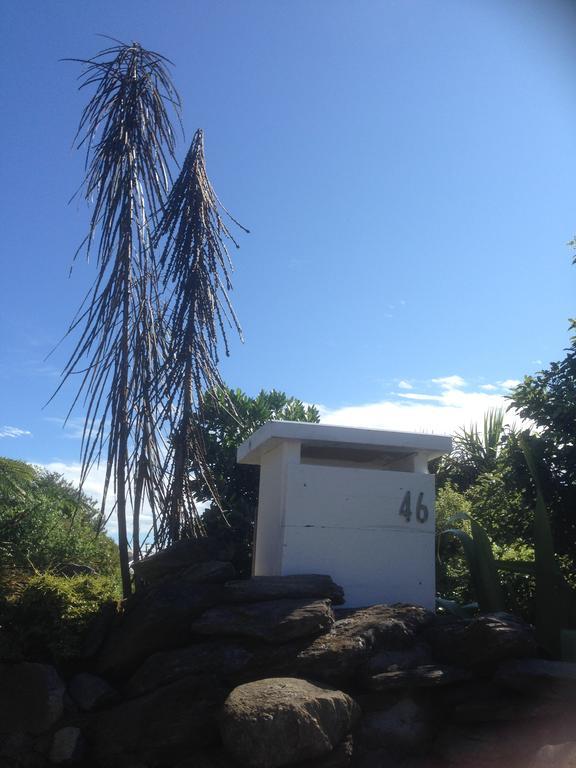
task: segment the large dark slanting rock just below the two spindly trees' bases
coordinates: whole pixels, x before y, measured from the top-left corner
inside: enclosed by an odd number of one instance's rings
[[[156,651],[191,641],[190,622],[222,599],[218,584],[171,581],[130,601],[98,658],[100,674],[131,674]]]

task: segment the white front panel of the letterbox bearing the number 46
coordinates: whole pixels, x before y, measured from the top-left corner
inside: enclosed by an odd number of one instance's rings
[[[282,574],[330,574],[346,607],[434,606],[432,475],[292,465],[286,489]],[[399,514],[408,491],[410,520]],[[424,522],[416,516],[421,493]]]

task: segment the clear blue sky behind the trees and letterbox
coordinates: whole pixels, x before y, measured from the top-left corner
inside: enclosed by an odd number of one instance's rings
[[[40,0],[3,8],[0,454],[78,459],[46,408],[94,274],[68,205],[105,41],[164,53],[208,171],[251,233],[234,254],[226,381],[333,423],[450,432],[568,344],[576,13],[531,0]],[[179,156],[183,158],[186,142]],[[94,490],[97,490],[94,481]]]

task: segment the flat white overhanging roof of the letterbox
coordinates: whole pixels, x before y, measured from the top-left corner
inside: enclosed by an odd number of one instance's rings
[[[428,461],[452,450],[452,438],[447,435],[389,432],[383,429],[309,424],[301,421],[267,421],[238,446],[238,463],[260,464],[264,453],[287,440],[300,442],[303,446],[376,448],[399,455],[421,453],[425,454]]]

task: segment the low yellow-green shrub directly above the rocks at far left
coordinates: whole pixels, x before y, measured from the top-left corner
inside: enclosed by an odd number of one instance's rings
[[[119,582],[108,576],[37,573],[12,585],[2,624],[27,658],[73,659],[100,607],[119,598]]]

